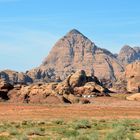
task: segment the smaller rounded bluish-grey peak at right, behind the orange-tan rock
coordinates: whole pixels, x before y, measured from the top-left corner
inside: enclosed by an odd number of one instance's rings
[[[118,59],[122,62],[124,66],[127,64],[130,64],[136,60],[140,60],[140,47],[130,47],[128,45],[125,45],[119,55]]]

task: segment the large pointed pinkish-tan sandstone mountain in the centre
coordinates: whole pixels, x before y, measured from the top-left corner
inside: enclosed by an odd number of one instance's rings
[[[82,33],[73,29],[54,45],[42,65],[29,71],[28,75],[32,79],[60,77],[63,80],[81,69],[99,79],[114,81],[124,71],[115,55],[97,47]]]

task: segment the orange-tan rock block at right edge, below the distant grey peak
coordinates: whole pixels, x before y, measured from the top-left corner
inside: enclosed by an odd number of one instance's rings
[[[126,67],[127,90],[130,92],[140,92],[140,61],[129,64]]]

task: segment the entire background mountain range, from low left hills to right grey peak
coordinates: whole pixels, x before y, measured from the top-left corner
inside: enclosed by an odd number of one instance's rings
[[[140,60],[140,47],[124,46],[119,54],[97,47],[76,29],[56,42],[43,63],[26,73],[0,71],[0,78],[10,83],[51,82],[64,80],[68,75],[85,70],[105,84],[124,79],[127,64]]]

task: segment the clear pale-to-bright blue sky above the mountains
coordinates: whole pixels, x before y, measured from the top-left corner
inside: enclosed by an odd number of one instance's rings
[[[113,53],[140,46],[139,7],[139,0],[0,0],[0,69],[40,65],[73,28]]]

